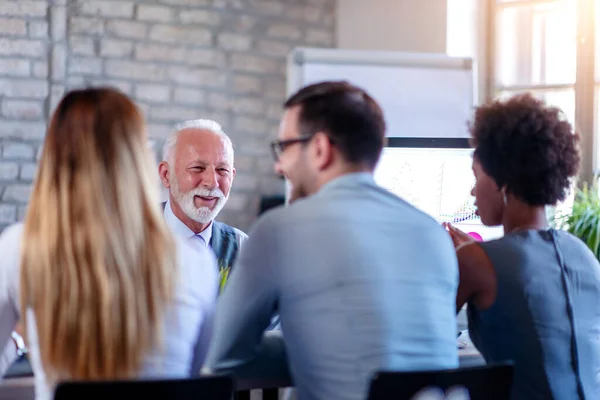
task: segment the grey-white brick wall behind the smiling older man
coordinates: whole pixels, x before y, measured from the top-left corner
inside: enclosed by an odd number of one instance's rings
[[[334,45],[335,0],[0,0],[0,231],[23,218],[46,123],[65,91],[117,87],[157,160],[172,125],[213,118],[237,177],[219,219],[247,229],[282,193],[268,143],[296,46]]]

